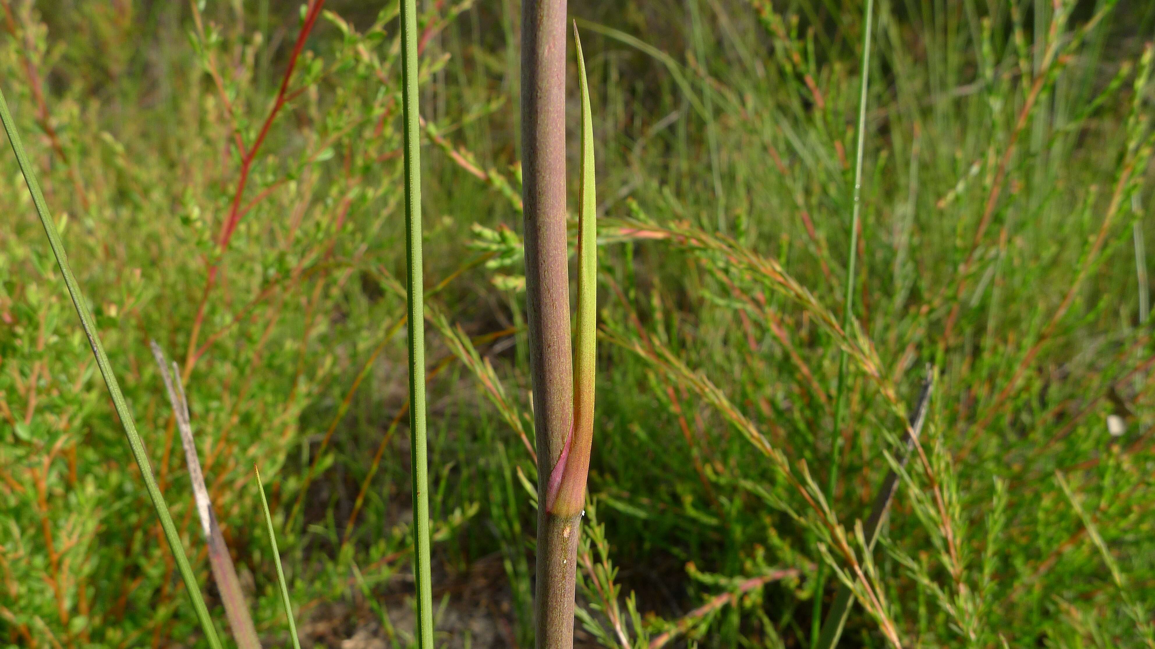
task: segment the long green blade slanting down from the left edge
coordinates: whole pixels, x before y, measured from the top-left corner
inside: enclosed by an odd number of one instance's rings
[[[36,214],[40,217],[40,224],[44,226],[44,233],[49,238],[52,254],[57,258],[60,274],[64,275],[65,285],[68,288],[68,296],[72,298],[73,306],[76,307],[76,315],[80,318],[84,335],[88,336],[88,343],[92,348],[92,356],[96,357],[96,365],[100,368],[100,376],[104,378],[104,383],[109,388],[112,405],[116,408],[117,416],[125,427],[128,447],[133,452],[133,458],[136,460],[136,467],[140,468],[141,477],[144,478],[144,487],[152,500],[156,516],[161,520],[161,528],[164,530],[164,537],[169,542],[173,559],[176,559],[177,567],[180,569],[180,576],[185,581],[188,598],[193,600],[193,609],[196,611],[196,619],[204,632],[204,640],[213,649],[219,649],[221,640],[217,637],[216,628],[213,626],[213,619],[209,618],[209,610],[204,606],[204,598],[201,597],[201,589],[196,584],[196,575],[193,574],[193,568],[188,565],[188,558],[185,557],[185,550],[180,545],[180,535],[177,532],[177,525],[172,522],[169,507],[164,502],[164,495],[161,493],[161,487],[157,486],[156,478],[152,476],[152,465],[148,460],[144,441],[141,440],[140,434],[136,432],[136,422],[128,409],[125,395],[120,391],[120,383],[117,382],[117,376],[112,372],[112,364],[109,363],[109,357],[104,353],[104,345],[100,343],[99,334],[96,330],[96,321],[92,319],[88,303],[80,290],[80,284],[76,282],[72,268],[68,266],[68,254],[65,252],[64,241],[60,240],[60,234],[57,232],[57,225],[52,221],[52,214],[49,211],[49,203],[44,200],[40,184],[36,179],[36,170],[32,167],[32,162],[28,159],[28,154],[24,151],[24,144],[20,139],[20,133],[16,130],[16,122],[12,118],[12,112],[8,111],[8,102],[5,99],[2,90],[0,90],[0,121],[3,122],[3,129],[8,133],[12,150],[16,155],[21,173],[24,174],[24,182],[28,185],[28,191],[32,195]]]

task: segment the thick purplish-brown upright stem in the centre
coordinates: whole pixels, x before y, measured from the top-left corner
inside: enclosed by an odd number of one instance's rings
[[[581,516],[546,512],[549,476],[573,413],[566,253],[566,0],[521,9],[522,200],[526,301],[537,438],[538,649],[573,646],[574,562]]]

